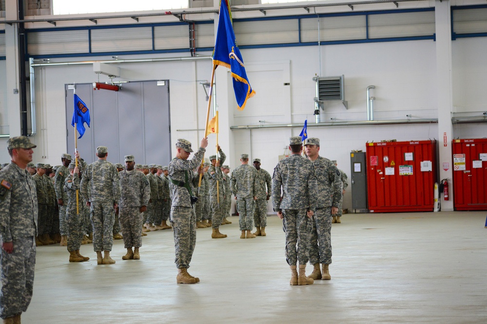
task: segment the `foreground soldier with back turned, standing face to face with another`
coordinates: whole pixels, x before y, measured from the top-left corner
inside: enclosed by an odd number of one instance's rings
[[[301,137],[289,138],[291,156],[282,159],[274,168],[272,176],[272,206],[283,219],[286,234],[286,260],[291,268],[292,286],[313,284],[305,274],[308,262],[310,231],[318,196],[316,171],[313,163],[300,154]],[[282,188],[282,200],[281,200]],[[296,249],[296,246],[298,249]],[[299,275],[296,263],[299,262]]]

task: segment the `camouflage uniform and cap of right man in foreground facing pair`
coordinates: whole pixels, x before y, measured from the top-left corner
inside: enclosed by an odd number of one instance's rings
[[[313,138],[309,138],[306,144],[314,143],[313,140]],[[317,209],[313,216],[309,263],[311,265],[331,264],[332,207],[337,207],[341,200],[341,180],[337,167],[330,160],[318,156],[313,164],[317,175],[318,195],[315,198]]]

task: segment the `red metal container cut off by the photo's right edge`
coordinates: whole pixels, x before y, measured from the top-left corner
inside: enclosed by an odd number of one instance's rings
[[[487,210],[487,139],[453,140],[453,207]]]

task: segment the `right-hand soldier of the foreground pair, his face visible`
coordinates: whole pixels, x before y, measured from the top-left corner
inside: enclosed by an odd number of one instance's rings
[[[318,179],[318,196],[315,198],[317,209],[313,216],[309,250],[309,263],[314,269],[308,277],[314,280],[330,280],[328,266],[332,263],[332,215],[337,214],[337,206],[340,204],[341,180],[333,162],[319,156],[318,138],[308,138],[304,146],[308,159],[315,165]]]

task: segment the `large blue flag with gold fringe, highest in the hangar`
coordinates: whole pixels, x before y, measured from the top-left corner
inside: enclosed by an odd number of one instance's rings
[[[223,65],[232,72],[235,99],[237,99],[239,110],[243,110],[247,99],[254,96],[255,91],[250,87],[247,73],[245,73],[244,59],[240,54],[233,31],[232,14],[228,0],[221,0],[220,3],[213,64]]]

